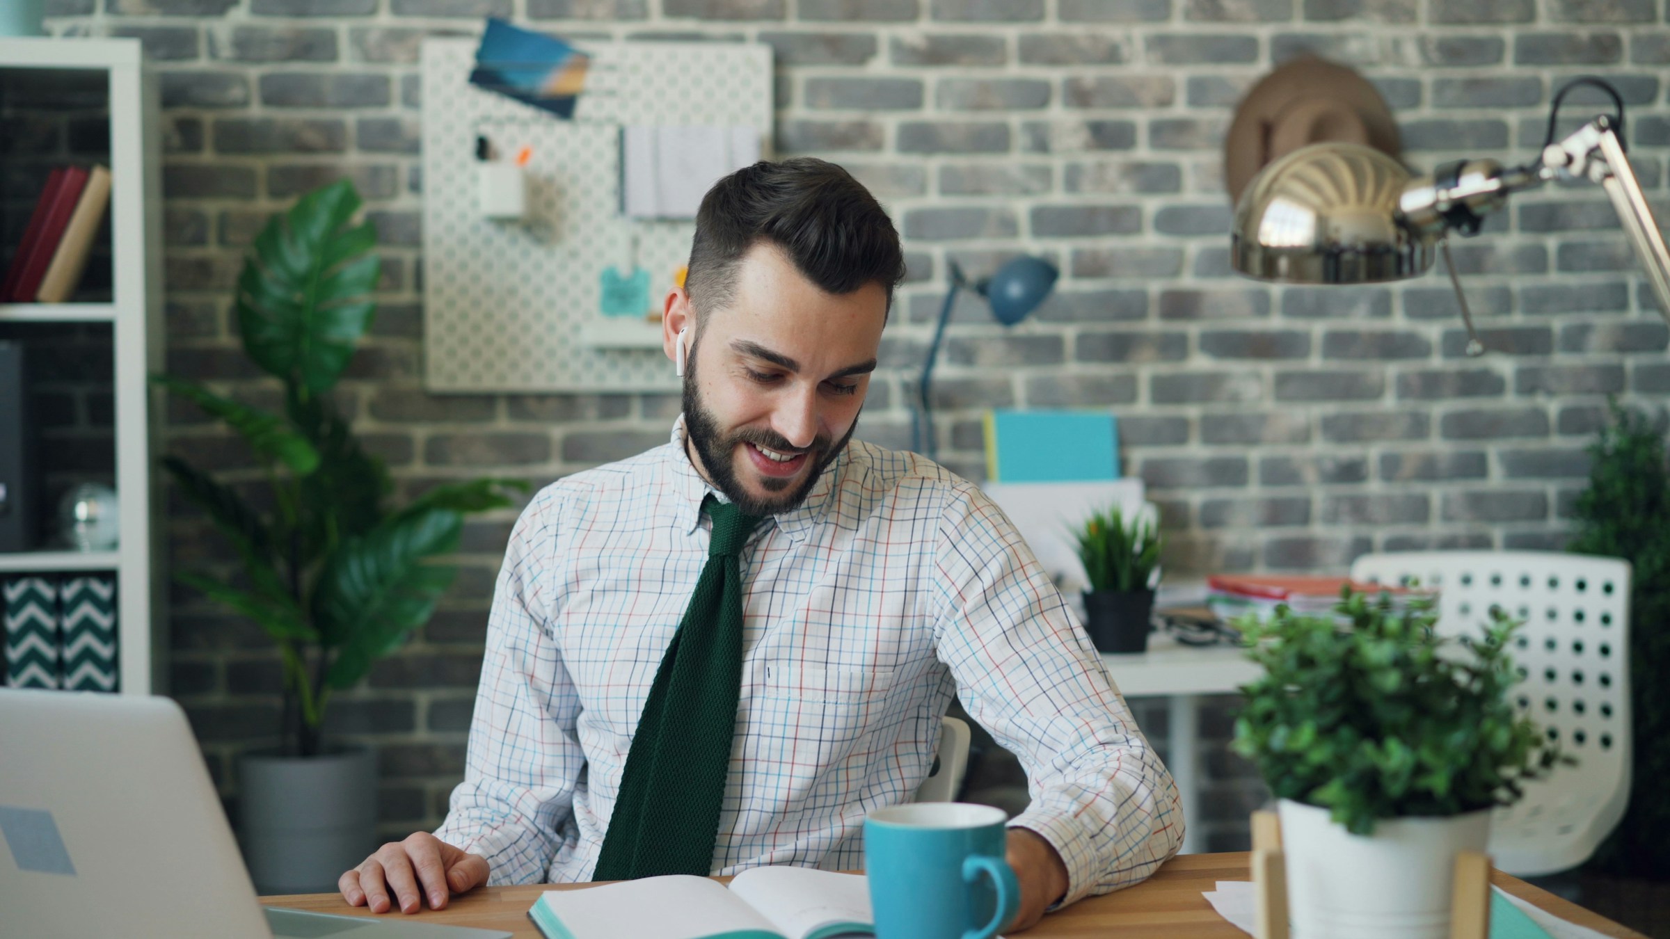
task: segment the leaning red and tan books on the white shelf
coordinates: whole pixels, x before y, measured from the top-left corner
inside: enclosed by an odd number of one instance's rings
[[[87,252],[110,206],[110,170],[62,165],[28,216],[23,241],[0,281],[0,302],[63,302],[82,281]]]

